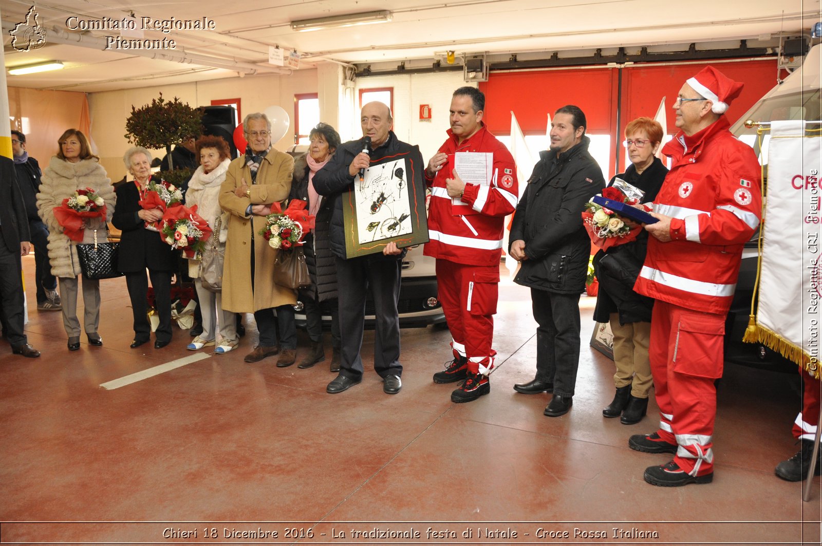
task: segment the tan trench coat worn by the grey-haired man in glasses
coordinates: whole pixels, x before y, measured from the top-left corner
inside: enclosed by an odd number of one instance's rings
[[[252,185],[251,169],[241,155],[229,164],[229,172],[220,186],[219,206],[229,213],[229,237],[225,243],[223,266],[223,308],[233,312],[255,312],[297,303],[297,293],[274,283],[275,248],[260,235],[266,226],[265,216],[246,215],[249,204],[270,205],[284,201],[291,190],[294,160],[271,148],[257,171]],[[237,197],[234,190],[245,178],[251,188],[251,198]],[[253,233],[253,235],[252,235]],[[254,290],[252,291],[251,248],[254,246]]]

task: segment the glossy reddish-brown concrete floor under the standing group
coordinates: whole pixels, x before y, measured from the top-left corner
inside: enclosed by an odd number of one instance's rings
[[[24,269],[34,302],[33,257]],[[820,480],[802,502],[800,483],[774,476],[798,449],[796,378],[727,364],[713,484],[653,487],[645,467],[670,457],[631,451],[627,438],[653,432],[656,405],[637,425],[603,419],[613,364],[589,347],[593,298],[580,303],[574,406],[551,419],[549,395],[511,388],[533,377],[536,344],[529,291],[509,281],[491,394],[460,405],[455,385],[431,380],[450,360],[446,330],[402,331],[396,396],[369,369],[367,332],[363,383],[331,396],[327,361],[243,363],[256,337],[250,316],[232,353],[205,349],[204,359],[106,390],[194,353],[180,330],[164,349],[129,349],[125,281],[101,287],[104,347],[84,335],[69,353],[61,313],[36,309],[26,329],[40,359],[0,342],[2,543],[820,544]]]

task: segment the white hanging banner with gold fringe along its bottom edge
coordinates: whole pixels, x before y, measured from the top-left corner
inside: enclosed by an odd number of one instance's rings
[[[805,122],[771,123],[759,306],[746,341],[760,341],[820,377],[820,136]]]

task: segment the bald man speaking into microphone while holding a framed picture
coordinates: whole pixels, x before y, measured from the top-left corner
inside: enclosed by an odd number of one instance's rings
[[[342,337],[339,376],[326,387],[330,394],[346,391],[363,380],[363,323],[367,289],[374,300],[376,332],[374,340],[374,369],[383,379],[382,390],[396,394],[402,387],[399,377],[403,367],[399,363],[399,276],[402,271],[404,250],[396,243],[386,244],[381,253],[346,259],[343,223],[343,197],[353,188],[360,169],[387,164],[400,158],[410,161],[409,191],[418,199],[425,199],[423,156],[418,146],[400,142],[391,131],[391,111],[380,102],[363,106],[360,115],[363,136],[371,138],[371,155],[363,150],[363,141],[349,141],[339,146],[325,167],[314,175],[316,192],[331,200],[330,242],[336,256],[337,285],[339,286],[339,329]],[[413,178],[411,178],[413,173]],[[413,189],[410,187],[413,185]]]

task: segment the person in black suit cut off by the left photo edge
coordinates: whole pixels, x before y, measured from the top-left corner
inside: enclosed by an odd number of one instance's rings
[[[20,258],[28,255],[31,249],[29,239],[29,222],[25,217],[14,163],[0,156],[0,301],[3,322],[12,353],[34,359],[40,352],[29,345],[23,331],[23,267]]]

